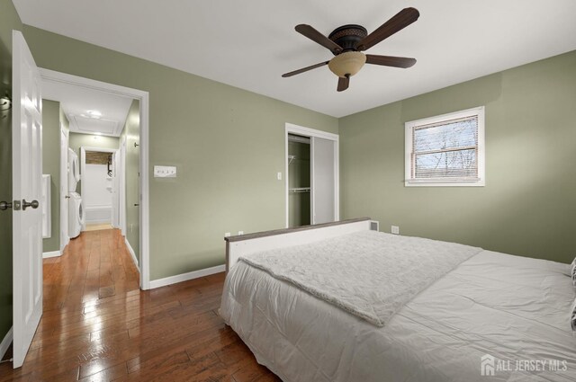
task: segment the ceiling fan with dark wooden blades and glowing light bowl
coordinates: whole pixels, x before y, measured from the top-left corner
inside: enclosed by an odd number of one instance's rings
[[[338,76],[337,89],[338,92],[342,92],[347,90],[348,84],[350,84],[350,76],[356,75],[364,64],[382,65],[384,67],[412,67],[416,64],[415,58],[365,55],[362,51],[374,47],[380,41],[406,28],[412,22],[417,21],[419,15],[420,13],[416,8],[404,8],[370,34],[361,25],[349,24],[335,29],[326,37],[310,25],[296,25],[295,30],[297,32],[329,49],[334,58],[310,67],[302,67],[302,69],[285,73],[282,76],[295,76],[311,69],[328,65],[332,73]]]

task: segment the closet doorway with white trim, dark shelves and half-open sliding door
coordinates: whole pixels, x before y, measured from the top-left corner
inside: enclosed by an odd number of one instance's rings
[[[285,144],[286,227],[338,220],[338,135],[287,123]]]

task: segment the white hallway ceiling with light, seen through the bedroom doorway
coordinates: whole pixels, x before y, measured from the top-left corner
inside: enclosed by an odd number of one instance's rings
[[[42,98],[60,102],[70,131],[112,137],[120,137],[132,102],[120,95],[46,79],[42,80]],[[94,111],[100,115],[91,115]]]

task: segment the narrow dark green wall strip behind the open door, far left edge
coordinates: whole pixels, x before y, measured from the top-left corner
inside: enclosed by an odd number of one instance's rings
[[[0,0],[0,97],[12,98],[12,30],[22,22],[10,0]],[[12,200],[12,110],[0,111],[0,200]],[[0,342],[12,327],[12,209],[0,211]]]

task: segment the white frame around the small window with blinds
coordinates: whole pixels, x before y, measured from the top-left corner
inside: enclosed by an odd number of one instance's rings
[[[478,117],[478,179],[412,179],[412,135],[414,128],[476,115]],[[410,120],[405,126],[404,185],[406,187],[483,187],[486,185],[484,153],[484,106],[437,115],[422,120]]]

